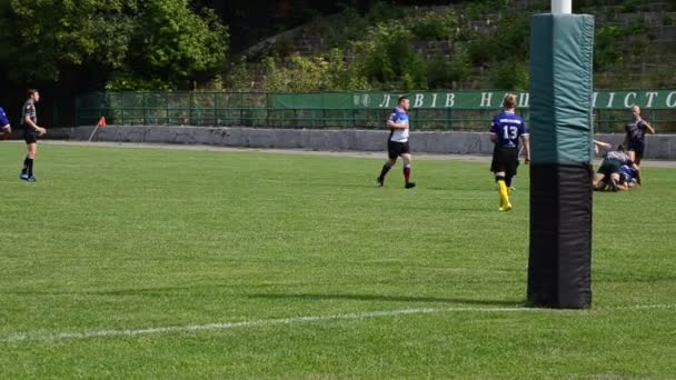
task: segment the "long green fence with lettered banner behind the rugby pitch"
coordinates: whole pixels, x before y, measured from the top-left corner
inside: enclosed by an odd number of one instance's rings
[[[109,124],[223,126],[266,128],[380,129],[395,107],[396,92],[96,92],[76,99],[76,122]],[[416,130],[488,128],[504,91],[406,93]],[[517,93],[518,112],[528,119],[529,94]],[[659,132],[676,133],[676,90],[595,92],[596,130],[620,132],[628,108],[642,106]]]

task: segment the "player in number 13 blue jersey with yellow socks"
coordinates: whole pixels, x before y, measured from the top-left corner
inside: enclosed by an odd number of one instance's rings
[[[524,143],[526,164],[530,162],[530,143],[526,122],[515,113],[516,96],[508,93],[503,99],[504,111],[493,118],[490,141],[495,143],[490,171],[498,183],[500,211],[510,211],[509,188],[519,164],[519,139]]]

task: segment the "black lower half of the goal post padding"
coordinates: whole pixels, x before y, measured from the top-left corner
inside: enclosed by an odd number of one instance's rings
[[[592,306],[592,167],[530,167],[528,304]],[[537,180],[535,180],[537,179]]]

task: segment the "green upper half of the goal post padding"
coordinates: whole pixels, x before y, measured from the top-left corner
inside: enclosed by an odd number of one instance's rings
[[[592,162],[594,17],[536,14],[530,38],[531,161]]]

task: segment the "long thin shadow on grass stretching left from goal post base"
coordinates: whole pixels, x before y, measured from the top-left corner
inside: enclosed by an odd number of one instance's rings
[[[441,298],[441,297],[408,297],[408,296],[375,296],[375,294],[249,294],[249,298],[271,299],[271,300],[350,300],[350,301],[379,301],[379,302],[436,302],[451,304],[477,304],[494,307],[515,307],[524,306],[524,300],[481,300],[470,298]]]

